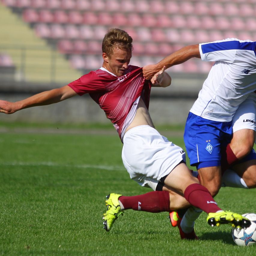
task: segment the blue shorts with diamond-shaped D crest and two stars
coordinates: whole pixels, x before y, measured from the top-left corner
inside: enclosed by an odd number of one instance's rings
[[[188,114],[184,142],[190,165],[197,169],[221,165],[221,148],[230,143],[232,122],[217,122]]]

